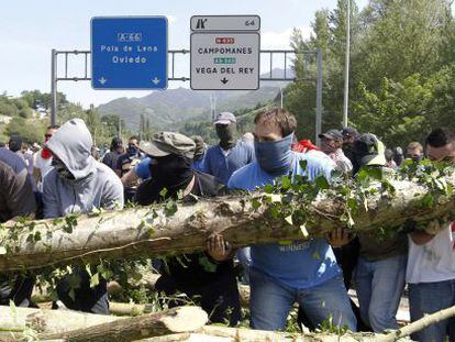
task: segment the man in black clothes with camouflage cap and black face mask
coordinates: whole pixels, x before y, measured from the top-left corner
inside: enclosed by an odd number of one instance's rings
[[[195,142],[184,134],[160,132],[151,143],[142,143],[141,148],[152,157],[152,178],[137,189],[140,205],[177,198],[191,201],[193,196],[223,194],[224,186],[213,176],[193,169]],[[221,323],[228,319],[235,326],[241,308],[233,253],[222,236],[212,235],[208,239],[207,252],[167,258],[155,288],[167,296],[185,293],[189,297],[200,297],[200,305],[210,315],[211,322]]]

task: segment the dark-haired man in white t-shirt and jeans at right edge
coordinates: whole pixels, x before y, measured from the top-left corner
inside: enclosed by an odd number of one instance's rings
[[[437,129],[426,139],[432,161],[455,164],[455,133]],[[409,235],[407,282],[411,320],[455,305],[455,222],[429,224]],[[432,324],[412,335],[414,341],[455,341],[455,318]]]

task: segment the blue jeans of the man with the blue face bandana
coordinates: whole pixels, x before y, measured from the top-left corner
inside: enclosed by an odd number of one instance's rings
[[[297,301],[314,327],[331,320],[334,326],[356,331],[357,321],[341,275],[318,286],[298,289],[251,268],[249,282],[253,329],[285,330],[288,313]]]

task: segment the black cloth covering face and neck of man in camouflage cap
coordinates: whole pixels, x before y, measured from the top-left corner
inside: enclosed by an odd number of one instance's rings
[[[151,164],[152,178],[142,183],[137,189],[136,201],[146,206],[160,202],[167,198],[177,198],[178,192],[185,190],[193,177],[192,159],[168,155],[155,157],[156,163]],[[166,195],[160,195],[166,189]]]

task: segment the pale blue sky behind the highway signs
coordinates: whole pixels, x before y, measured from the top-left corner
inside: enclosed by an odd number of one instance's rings
[[[367,0],[357,0],[359,8]],[[166,15],[169,23],[168,46],[190,46],[191,15],[257,14],[260,16],[260,47],[289,48],[289,36],[299,27],[310,36],[314,12],[333,9],[336,0],[14,0],[2,3],[0,21],[0,91],[19,96],[22,90],[51,91],[51,51],[90,49],[92,16]],[[58,59],[63,66],[63,59]],[[176,70],[189,76],[189,58],[177,58]],[[282,62],[276,62],[277,67]],[[262,60],[262,70],[268,63]],[[281,67],[282,68],[282,67]],[[63,68],[59,68],[62,76]],[[81,76],[80,58],[69,60],[69,75]],[[189,82],[170,81],[169,88]],[[142,97],[149,91],[93,90],[90,81],[59,81],[58,91],[68,100],[88,108],[120,97]]]

